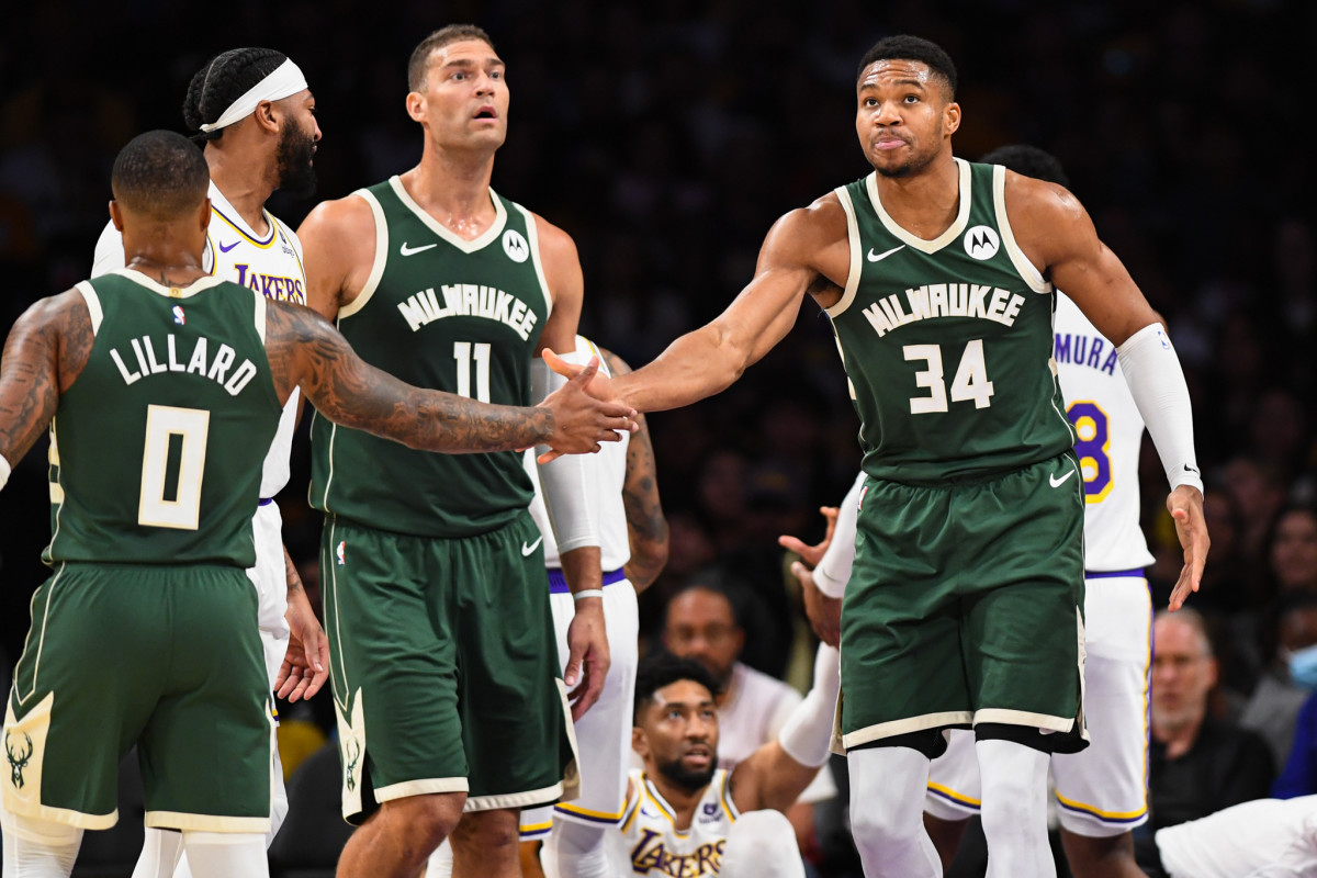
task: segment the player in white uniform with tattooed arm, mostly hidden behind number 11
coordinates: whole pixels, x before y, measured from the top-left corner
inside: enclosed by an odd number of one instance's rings
[[[599,357],[599,369],[620,375],[630,367],[616,354],[577,336],[582,357]],[[631,767],[631,707],[636,686],[636,641],[640,619],[636,595],[662,571],[668,557],[668,521],[655,482],[653,449],[644,417],[640,429],[590,457],[585,474],[589,508],[594,511],[594,542],[599,545],[603,574],[603,617],[608,632],[608,677],[590,712],[576,721],[577,746],[589,758],[581,763],[581,795],[574,802],[529,808],[520,815],[522,870],[540,874],[540,845],[547,840],[551,874],[577,878],[614,878],[607,841],[622,820]],[[545,511],[533,458],[527,473],[535,483],[531,517],[544,534],[544,563],[549,569],[553,627],[558,662],[568,662],[566,631],[573,617],[572,595],[558,566],[558,546]],[[528,871],[533,870],[533,871]],[[452,849],[440,845],[429,858],[429,878],[452,874]]]

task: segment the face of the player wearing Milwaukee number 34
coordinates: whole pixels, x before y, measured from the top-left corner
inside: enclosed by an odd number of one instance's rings
[[[876,61],[860,74],[855,132],[860,149],[882,176],[918,174],[944,149],[960,126],[960,104],[917,61]]]

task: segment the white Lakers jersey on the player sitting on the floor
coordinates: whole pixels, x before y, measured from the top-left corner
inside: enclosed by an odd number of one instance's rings
[[[714,779],[695,806],[690,828],[678,832],[672,806],[645,778],[644,771],[633,769],[631,790],[635,798],[622,815],[622,837],[631,865],[626,874],[665,878],[716,875],[722,869],[727,833],[740,816],[732,804],[727,778],[723,769],[714,771]]]

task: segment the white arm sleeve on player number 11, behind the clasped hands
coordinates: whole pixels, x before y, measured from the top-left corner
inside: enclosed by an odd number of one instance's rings
[[[577,351],[558,354],[569,363],[583,366],[590,362],[587,357]],[[531,401],[540,404],[544,398],[566,384],[568,379],[549,369],[544,359],[536,357],[531,361]],[[536,454],[549,450],[547,445],[536,449]],[[540,463],[540,486],[544,488],[544,508],[549,513],[549,524],[553,528],[553,538],[558,544],[558,557],[573,549],[585,546],[598,546],[599,525],[594,517],[594,508],[590,503],[589,487],[595,482],[590,479],[591,466],[601,466],[603,461],[598,454],[564,454],[562,457]]]

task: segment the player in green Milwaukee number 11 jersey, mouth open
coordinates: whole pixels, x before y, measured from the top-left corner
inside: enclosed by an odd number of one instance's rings
[[[421,41],[407,95],[420,165],[321,204],[299,234],[308,303],[363,359],[524,404],[553,380],[540,351],[576,349],[583,284],[572,238],[490,188],[507,136],[503,72],[479,28]],[[574,602],[558,679],[519,455],[412,454],[320,419],[312,436],[344,816],[365,820],[338,874],[412,878],[453,832],[458,875],[518,875],[518,812],[574,794],[569,723],[608,671],[579,461],[541,471]],[[564,682],[576,686],[572,716]]]

